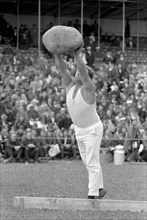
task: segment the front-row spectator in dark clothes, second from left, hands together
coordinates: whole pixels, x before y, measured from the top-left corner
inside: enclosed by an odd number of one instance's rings
[[[32,130],[27,129],[25,138],[21,142],[22,148],[24,148],[24,155],[26,162],[41,162],[39,159],[39,147],[38,142],[32,136]]]

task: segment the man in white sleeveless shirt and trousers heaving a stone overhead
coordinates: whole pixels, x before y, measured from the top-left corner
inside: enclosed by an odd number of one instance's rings
[[[66,90],[66,104],[75,127],[75,135],[83,163],[88,170],[88,199],[101,199],[106,194],[99,161],[103,125],[96,111],[93,70],[80,57],[82,47],[74,52],[77,71],[72,78],[62,55],[55,54]]]

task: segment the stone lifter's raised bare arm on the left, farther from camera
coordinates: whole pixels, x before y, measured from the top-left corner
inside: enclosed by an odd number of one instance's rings
[[[59,70],[61,71],[64,86],[67,88],[73,81],[70,71],[61,54],[55,54],[55,60]]]

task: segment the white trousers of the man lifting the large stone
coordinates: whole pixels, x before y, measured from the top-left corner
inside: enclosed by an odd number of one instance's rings
[[[88,195],[98,196],[103,188],[103,175],[99,161],[99,150],[103,135],[101,121],[87,128],[75,126],[75,135],[83,163],[88,170]]]

